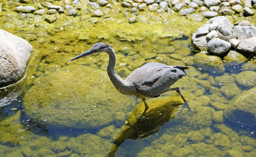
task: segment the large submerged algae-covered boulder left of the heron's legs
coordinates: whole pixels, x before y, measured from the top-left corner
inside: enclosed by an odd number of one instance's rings
[[[64,66],[36,82],[26,92],[23,105],[26,114],[49,127],[96,129],[123,123],[125,115],[119,113],[135,105],[135,97],[116,91],[106,71],[89,66]]]

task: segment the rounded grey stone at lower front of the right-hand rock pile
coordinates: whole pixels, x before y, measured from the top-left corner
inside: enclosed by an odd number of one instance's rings
[[[221,57],[231,48],[231,44],[225,40],[214,38],[207,43],[207,47],[212,54]]]

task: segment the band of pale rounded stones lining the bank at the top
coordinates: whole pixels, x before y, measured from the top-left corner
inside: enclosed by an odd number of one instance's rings
[[[29,1],[20,2],[29,3]],[[129,18],[130,23],[134,23],[138,21],[136,15],[146,10],[157,13],[178,12],[180,16],[188,15],[188,18],[197,21],[201,21],[203,18],[232,16],[234,14],[253,16],[253,10],[256,8],[255,3],[256,0],[242,0],[242,2],[240,0],[118,0],[117,2],[114,0],[90,0],[90,2],[74,0],[72,2],[65,1],[60,5],[54,5],[49,2],[38,3],[35,7],[20,5],[15,10],[22,15],[27,13],[35,15],[48,14],[50,16],[46,17],[46,21],[54,23],[57,20],[57,13],[67,14],[68,16],[89,13],[92,17],[108,17],[109,13],[113,12],[114,7],[122,6],[128,9],[128,12],[124,12],[124,15]],[[134,16],[129,16],[129,13]]]

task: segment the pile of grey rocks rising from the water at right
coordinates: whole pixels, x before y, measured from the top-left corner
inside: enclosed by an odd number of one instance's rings
[[[211,18],[192,35],[195,52],[208,51],[224,57],[236,50],[246,57],[256,56],[256,27],[249,21],[234,26],[223,16]]]

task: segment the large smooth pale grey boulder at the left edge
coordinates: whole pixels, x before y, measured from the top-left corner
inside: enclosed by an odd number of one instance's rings
[[[32,50],[26,40],[0,29],[0,86],[23,75]]]

